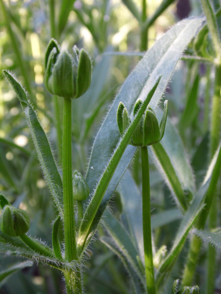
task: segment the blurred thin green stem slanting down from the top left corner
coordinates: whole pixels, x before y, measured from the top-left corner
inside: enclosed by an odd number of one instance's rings
[[[6,7],[5,7],[5,4],[4,4],[3,0],[0,0],[0,3],[1,3],[3,14],[4,14],[6,27],[7,27],[10,39],[11,39],[11,44],[12,44],[14,53],[15,53],[15,55],[17,57],[17,61],[19,63],[19,67],[21,69],[22,76],[24,77],[25,86],[27,88],[27,91],[31,95],[32,91],[31,91],[31,86],[30,86],[30,83],[29,83],[29,78],[28,78],[28,75],[27,75],[27,71],[24,68],[24,61],[22,60],[21,50],[19,49],[19,46],[17,44],[17,38],[16,38],[14,32],[11,29],[10,16],[9,16],[7,10],[6,10]]]

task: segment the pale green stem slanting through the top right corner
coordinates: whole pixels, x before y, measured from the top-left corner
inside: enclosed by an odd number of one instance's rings
[[[220,59],[220,36],[218,31],[218,26],[216,22],[216,16],[210,4],[210,0],[201,0],[202,8],[207,19],[207,26],[210,30],[212,42],[217,54],[217,57]]]

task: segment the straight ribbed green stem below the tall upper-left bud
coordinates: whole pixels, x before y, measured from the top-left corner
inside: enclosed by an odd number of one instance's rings
[[[62,145],[65,257],[68,261],[72,261],[77,259],[77,250],[72,190],[71,99],[66,98],[64,98]]]

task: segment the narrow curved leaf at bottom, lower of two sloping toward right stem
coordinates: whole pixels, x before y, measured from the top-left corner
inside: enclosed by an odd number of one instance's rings
[[[141,283],[138,275],[133,270],[133,268],[131,268],[130,263],[128,263],[128,260],[125,258],[123,253],[121,251],[119,251],[118,248],[116,248],[116,244],[113,243],[113,239],[108,238],[106,236],[103,236],[100,240],[102,243],[104,243],[108,248],[110,248],[110,250],[112,250],[121,259],[123,265],[125,266],[127,272],[130,275],[130,280],[133,285],[134,293],[136,293],[136,294],[146,293],[145,288],[142,287],[142,283]]]

